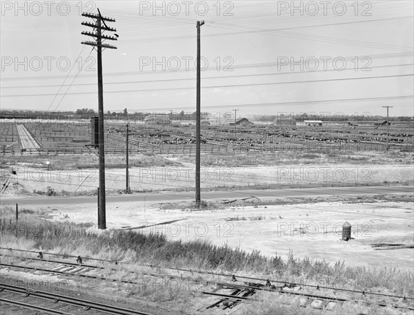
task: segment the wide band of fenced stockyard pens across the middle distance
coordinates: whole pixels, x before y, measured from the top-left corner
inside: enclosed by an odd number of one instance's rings
[[[22,123],[23,124],[23,123]],[[88,120],[26,122],[28,133],[22,135],[17,122],[1,124],[1,155],[94,154],[90,146]],[[387,132],[388,129],[388,132]],[[33,137],[41,149],[25,149],[23,137]],[[412,152],[414,131],[408,124],[396,126],[326,126],[219,125],[201,126],[201,153],[242,153],[248,151],[386,151]],[[130,153],[193,154],[195,130],[188,124],[130,124]],[[106,123],[106,154],[126,153],[126,124]]]

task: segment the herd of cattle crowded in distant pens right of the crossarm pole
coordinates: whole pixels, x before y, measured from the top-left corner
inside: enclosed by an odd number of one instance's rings
[[[125,126],[109,126],[108,133],[125,134]],[[173,126],[130,126],[130,138],[153,145],[189,145],[195,144],[195,131],[193,127]],[[373,144],[386,143],[386,133],[378,133],[374,130],[349,131],[330,130],[328,128],[286,128],[270,129],[266,127],[235,128],[202,126],[201,144],[219,146],[275,146],[281,143],[292,144]],[[390,144],[413,143],[413,134],[390,133],[388,137]]]

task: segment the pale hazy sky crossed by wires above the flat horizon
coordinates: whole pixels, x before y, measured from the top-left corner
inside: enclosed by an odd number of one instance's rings
[[[81,12],[99,8],[119,35],[103,51],[105,111],[195,111],[204,20],[201,111],[414,114],[413,1],[293,5],[1,1],[1,108],[97,110],[97,53],[81,44],[93,20]]]

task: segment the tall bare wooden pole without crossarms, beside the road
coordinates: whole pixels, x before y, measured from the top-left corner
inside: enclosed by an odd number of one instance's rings
[[[197,109],[195,123],[195,206],[200,207],[200,125],[201,125],[201,73],[200,73],[200,27],[204,21],[197,21]]]

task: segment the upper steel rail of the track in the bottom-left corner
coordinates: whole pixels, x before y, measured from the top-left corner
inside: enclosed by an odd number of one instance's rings
[[[110,314],[119,314],[119,315],[152,315],[149,313],[139,312],[132,309],[125,309],[122,307],[106,305],[103,303],[96,303],[91,300],[83,300],[81,298],[73,298],[72,296],[63,296],[60,294],[54,294],[44,291],[32,291],[28,290],[25,287],[18,287],[16,285],[8,285],[6,283],[0,283],[0,289],[6,290],[8,292],[25,294],[25,296],[34,296],[37,298],[43,298],[46,300],[53,300],[57,302],[66,303],[69,305],[74,305],[77,307],[87,307],[88,309],[95,309],[97,311],[108,312]]]

